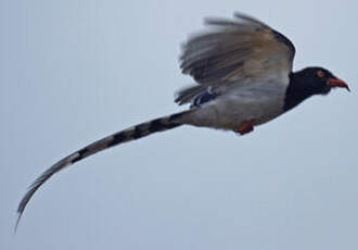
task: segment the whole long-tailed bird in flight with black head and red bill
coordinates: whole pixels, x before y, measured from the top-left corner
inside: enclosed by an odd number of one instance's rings
[[[293,72],[295,47],[281,33],[243,13],[205,20],[206,29],[182,45],[180,67],[194,84],[177,92],[184,111],[140,123],[63,158],[28,188],[17,221],[34,193],[55,173],[99,151],[182,125],[246,135],[316,95],[348,85],[330,71],[310,66]]]

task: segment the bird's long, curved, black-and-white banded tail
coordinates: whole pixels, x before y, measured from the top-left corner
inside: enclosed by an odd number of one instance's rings
[[[68,157],[63,158],[59,162],[54,163],[50,168],[44,171],[40,177],[38,177],[31,186],[29,186],[27,192],[21,200],[18,208],[17,208],[17,221],[15,225],[15,232],[18,226],[20,220],[24,213],[24,210],[28,203],[28,201],[31,199],[36,190],[42,186],[53,174],[57,173],[59,171],[65,168],[66,166],[69,166],[89,155],[92,155],[99,151],[102,151],[104,149],[108,149],[111,147],[128,142],[130,140],[136,140],[139,138],[142,138],[144,136],[149,136],[156,132],[164,132],[168,130],[175,127],[178,127],[180,125],[183,125],[181,123],[180,117],[184,114],[189,113],[190,111],[184,111],[181,113],[171,114],[168,116],[159,117],[150,122],[141,123],[136,126],[129,127],[125,130],[117,132],[111,136],[104,137],[103,139],[100,139],[98,141],[94,141],[93,143],[86,146],[85,148],[69,154]]]

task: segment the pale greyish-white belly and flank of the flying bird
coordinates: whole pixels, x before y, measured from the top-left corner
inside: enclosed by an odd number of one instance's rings
[[[283,113],[285,90],[286,85],[280,85],[277,80],[235,87],[190,113],[183,122],[233,130],[251,120],[255,125],[260,125]]]

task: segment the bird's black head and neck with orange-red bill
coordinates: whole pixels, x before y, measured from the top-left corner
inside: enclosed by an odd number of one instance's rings
[[[291,73],[284,111],[294,108],[314,95],[327,95],[336,87],[350,91],[346,83],[322,67],[306,67],[299,72]]]

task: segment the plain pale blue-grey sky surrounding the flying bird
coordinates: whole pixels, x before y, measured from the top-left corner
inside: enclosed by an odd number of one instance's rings
[[[1,0],[0,249],[358,249],[357,1]],[[294,68],[345,79],[244,137],[180,127],[27,186],[116,130],[182,110],[180,45],[206,16],[256,16]]]

